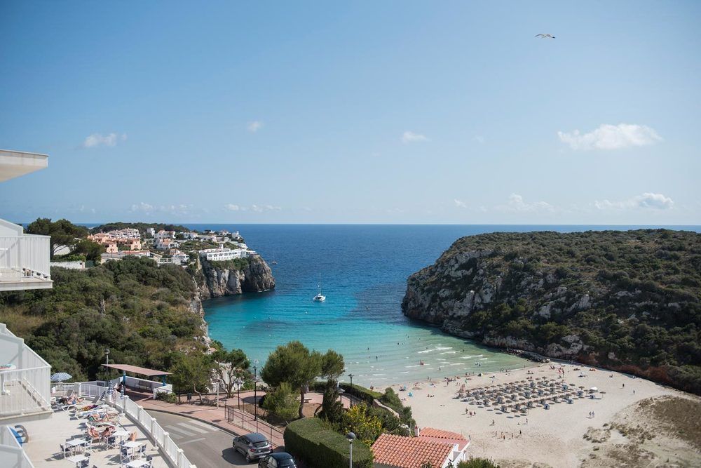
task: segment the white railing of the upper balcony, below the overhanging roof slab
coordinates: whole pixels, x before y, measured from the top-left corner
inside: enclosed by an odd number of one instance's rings
[[[50,279],[50,236],[0,236],[0,281]]]

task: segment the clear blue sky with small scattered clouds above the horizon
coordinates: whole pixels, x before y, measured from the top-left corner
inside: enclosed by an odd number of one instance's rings
[[[701,2],[0,2],[0,217],[701,224]],[[540,39],[536,34],[552,34]]]

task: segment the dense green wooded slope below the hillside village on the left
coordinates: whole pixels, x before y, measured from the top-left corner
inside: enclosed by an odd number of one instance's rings
[[[204,351],[196,293],[180,267],[125,258],[86,271],[53,268],[53,289],[0,293],[0,321],[56,372],[76,380],[103,374],[110,360],[168,369],[181,352]]]

